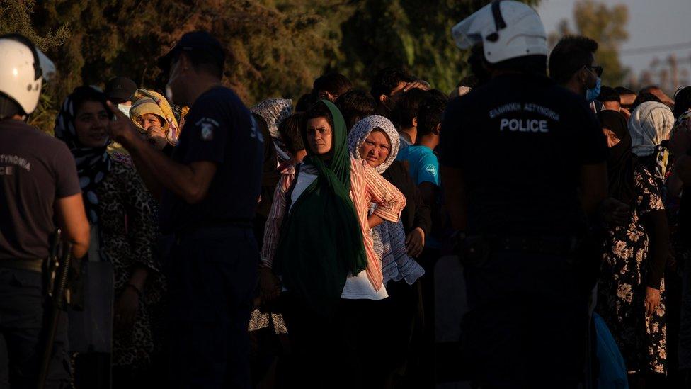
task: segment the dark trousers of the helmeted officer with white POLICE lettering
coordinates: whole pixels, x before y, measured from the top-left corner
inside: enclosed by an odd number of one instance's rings
[[[585,366],[588,293],[573,261],[492,251],[464,261],[463,340],[481,388],[576,388]]]

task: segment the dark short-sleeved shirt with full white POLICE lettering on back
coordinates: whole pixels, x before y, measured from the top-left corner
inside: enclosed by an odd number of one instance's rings
[[[563,235],[585,227],[580,169],[605,162],[607,145],[582,96],[546,77],[506,74],[452,100],[440,137],[440,163],[463,174],[468,232]]]

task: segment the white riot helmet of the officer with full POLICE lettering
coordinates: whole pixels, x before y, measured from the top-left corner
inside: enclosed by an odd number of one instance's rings
[[[451,29],[456,45],[483,44],[487,62],[496,64],[525,55],[547,55],[547,33],[537,12],[513,0],[494,0]]]

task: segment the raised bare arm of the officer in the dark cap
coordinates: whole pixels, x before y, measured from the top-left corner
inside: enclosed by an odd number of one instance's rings
[[[216,174],[215,162],[179,164],[173,161],[142,139],[132,120],[118,111],[112,103],[108,102],[108,106],[117,118],[108,125],[108,133],[130,152],[154,196],[160,198],[161,188],[166,188],[190,204],[199,203],[206,197]]]

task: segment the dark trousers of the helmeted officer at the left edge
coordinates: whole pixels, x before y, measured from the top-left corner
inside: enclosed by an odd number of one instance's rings
[[[0,388],[36,388],[43,356],[42,276],[0,268]],[[67,313],[62,312],[53,344],[46,388],[68,388]]]

